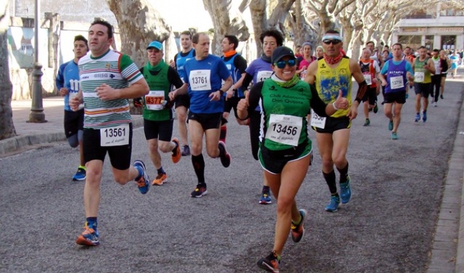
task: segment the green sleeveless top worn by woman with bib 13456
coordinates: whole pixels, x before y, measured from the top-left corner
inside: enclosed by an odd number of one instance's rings
[[[272,79],[263,82],[261,90],[262,125],[261,143],[269,150],[286,150],[305,141],[306,152],[311,151],[307,134],[307,119],[311,90],[305,81],[298,81],[291,88],[283,88]]]

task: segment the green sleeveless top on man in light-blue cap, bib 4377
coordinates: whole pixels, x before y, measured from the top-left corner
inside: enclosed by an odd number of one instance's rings
[[[157,72],[151,74],[149,63],[144,66],[144,78],[148,83],[150,92],[144,97],[144,119],[149,121],[168,121],[173,119],[172,110],[165,109],[163,101],[168,100],[168,94],[171,91],[171,83],[168,81],[169,65],[162,61],[157,64],[151,71]]]

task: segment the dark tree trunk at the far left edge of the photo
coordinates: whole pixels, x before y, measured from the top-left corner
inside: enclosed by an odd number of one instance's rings
[[[16,136],[11,110],[13,87],[8,65],[8,0],[0,0],[0,140]]]

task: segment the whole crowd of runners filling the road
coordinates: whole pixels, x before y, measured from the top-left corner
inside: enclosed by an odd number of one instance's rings
[[[266,30],[260,36],[262,56],[247,63],[236,51],[237,37],[226,35],[223,55],[217,57],[209,53],[208,34],[185,31],[180,34],[182,49],[172,61],[166,63],[162,43],[152,41],[146,47],[148,62],[137,68],[126,54],[110,49],[113,26],[94,21],[87,39],[75,37],[75,58],[61,65],[56,79],[65,100],[66,136],[80,151],[72,180],[85,180],[86,221],[77,244],[99,245],[97,214],[106,154],[115,181],[135,181],[142,194],[151,185],[168,181],[163,153],[170,154],[173,163],[190,156],[197,178],[190,196],[200,198],[208,193],[203,152],[228,168],[226,123],[237,122],[248,127],[250,156],[263,170],[257,203],[267,205],[273,199],[278,203],[273,249],[259,259],[258,266],[279,272],[289,234],[295,243],[305,234],[307,211],[298,208],[295,196],[311,165],[310,128],[316,135],[322,175],[330,192],[325,210],[337,212],[340,203],[351,199],[347,150],[359,106],[364,126],[369,126],[369,113],[378,112],[382,92],[380,104],[388,119],[385,130],[392,131],[391,139],[396,140],[409,92],[416,95],[416,117],[411,120],[426,122],[429,97],[435,107],[438,99],[444,99],[447,73],[455,77],[460,61],[456,53],[449,57],[443,50],[425,46],[417,49],[416,56],[400,43],[381,52],[373,41],[365,44],[360,59],[355,60],[343,51],[338,31],[325,32],[321,41],[315,49],[308,41],[293,52],[284,46],[280,32]],[[352,79],[358,83],[356,94],[351,94]],[[131,163],[129,99],[142,108],[147,150],[157,170],[153,181],[143,161]],[[232,110],[235,119],[230,117]],[[178,138],[173,137],[174,112]]]

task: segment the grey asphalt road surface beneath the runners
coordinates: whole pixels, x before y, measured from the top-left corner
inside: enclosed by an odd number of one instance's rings
[[[445,100],[414,123],[410,93],[397,141],[383,109],[363,127],[359,108],[348,151],[353,196],[336,213],[324,210],[329,190],[314,141],[297,196],[309,212],[307,233],[299,244],[289,239],[281,272],[425,272],[463,94],[462,83],[448,81]],[[144,160],[153,179],[142,129],[133,143],[133,160]],[[164,154],[169,181],[144,196],[135,183],[115,183],[107,159],[99,247],[75,244],[85,221],[84,183],[71,181],[77,150],[61,142],[0,159],[0,272],[260,272],[255,263],[273,246],[275,200],[258,204],[262,170],[248,128],[231,121],[227,148],[227,169],[204,153],[209,194],[201,199],[190,197],[190,157],[174,165]]]

